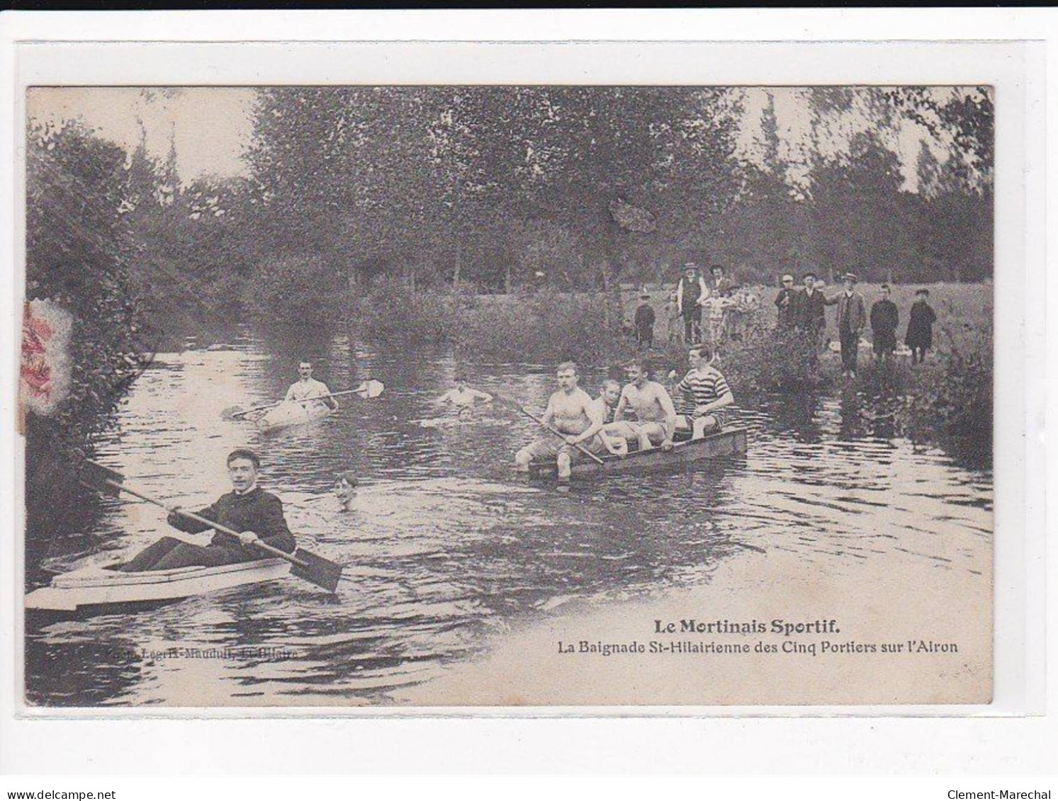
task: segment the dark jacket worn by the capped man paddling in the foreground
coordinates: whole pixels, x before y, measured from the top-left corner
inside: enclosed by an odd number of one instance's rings
[[[282,516],[282,502],[260,487],[255,487],[243,495],[235,492],[222,495],[216,503],[196,514],[235,532],[253,532],[266,544],[288,554],[293,553],[297,546],[297,543],[294,542],[294,536],[287,527],[287,520]],[[188,534],[199,534],[212,528],[205,523],[184,517],[179,511],[170,513],[168,521],[172,527]],[[252,545],[244,547],[238,538],[223,532],[217,532],[209,544],[225,548],[241,548],[245,552],[248,559],[259,559],[267,556],[266,552]]]

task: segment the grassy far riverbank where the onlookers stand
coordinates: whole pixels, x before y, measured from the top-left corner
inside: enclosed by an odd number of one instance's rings
[[[900,310],[897,340],[902,343],[909,310],[919,284],[893,285]],[[471,362],[557,364],[573,359],[583,367],[618,366],[638,352],[631,322],[643,287],[620,293],[563,293],[549,288],[519,295],[479,296],[401,292],[394,283],[372,286],[349,310],[358,336],[402,347],[451,347],[458,360]],[[686,369],[682,325],[665,309],[671,287],[652,285],[645,294],[655,311],[650,356],[658,374]],[[880,296],[877,284],[857,287],[870,305]],[[750,287],[755,304],[731,319],[730,338],[722,346],[719,367],[740,402],[774,390],[795,394],[822,392],[860,396],[865,417],[896,435],[919,444],[959,440],[973,463],[991,462],[992,440],[992,288],[981,284],[930,284],[937,313],[933,348],[925,365],[912,366],[907,354],[878,365],[868,340],[860,348],[855,379],[842,377],[836,353],[836,313],[827,314],[817,353],[800,337],[777,335],[774,287]],[[837,287],[827,290],[833,295]]]

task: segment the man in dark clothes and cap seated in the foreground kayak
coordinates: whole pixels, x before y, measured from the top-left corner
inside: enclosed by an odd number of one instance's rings
[[[287,527],[282,502],[257,486],[258,469],[260,459],[256,453],[245,448],[233,450],[227,455],[227,476],[232,481],[233,491],[222,495],[216,503],[196,513],[199,517],[240,532],[238,537],[217,532],[208,545],[194,545],[176,537],[163,537],[122,565],[122,570],[126,573],[139,573],[194,565],[213,567],[268,558],[267,552],[254,547],[257,541],[292,554],[296,543]],[[179,509],[169,513],[168,523],[188,534],[200,534],[209,528],[204,523],[181,515]]]

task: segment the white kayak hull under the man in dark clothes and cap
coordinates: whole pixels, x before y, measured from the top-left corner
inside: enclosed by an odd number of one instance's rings
[[[25,596],[25,609],[28,612],[77,612],[87,608],[180,600],[232,586],[273,581],[290,574],[290,563],[278,558],[143,573],[123,573],[117,570],[120,564],[92,565],[56,576],[49,586]]]

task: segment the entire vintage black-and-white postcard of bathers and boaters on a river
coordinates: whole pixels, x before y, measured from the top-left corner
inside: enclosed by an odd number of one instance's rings
[[[990,702],[995,87],[24,107],[29,710]]]

